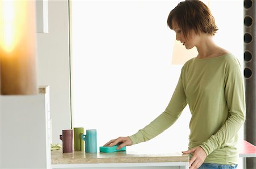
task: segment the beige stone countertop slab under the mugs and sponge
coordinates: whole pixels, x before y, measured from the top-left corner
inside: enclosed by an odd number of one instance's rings
[[[150,163],[150,162],[189,162],[189,156],[174,154],[142,154],[131,151],[115,153],[89,154],[84,151],[62,153],[62,149],[51,151],[52,164],[86,164],[86,163]]]

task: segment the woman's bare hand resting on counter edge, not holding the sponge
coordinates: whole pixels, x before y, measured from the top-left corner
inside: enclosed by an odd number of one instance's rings
[[[204,160],[207,157],[207,154],[200,146],[197,146],[188,151],[182,151],[182,153],[183,154],[191,153],[193,155],[193,157],[189,160],[189,169],[199,168],[201,166],[201,164],[204,163]]]

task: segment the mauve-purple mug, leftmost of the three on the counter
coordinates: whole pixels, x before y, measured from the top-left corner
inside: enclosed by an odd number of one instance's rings
[[[62,130],[62,135],[60,135],[60,140],[62,140],[63,153],[73,152],[73,129]]]

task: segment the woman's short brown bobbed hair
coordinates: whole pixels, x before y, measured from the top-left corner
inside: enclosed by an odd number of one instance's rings
[[[167,24],[171,29],[172,20],[181,28],[186,39],[190,36],[191,30],[195,31],[196,35],[200,32],[215,35],[218,30],[210,9],[198,0],[180,2],[168,16]]]

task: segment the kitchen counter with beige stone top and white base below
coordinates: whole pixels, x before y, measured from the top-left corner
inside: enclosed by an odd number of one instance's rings
[[[62,149],[51,151],[51,163],[53,168],[140,166],[184,166],[181,168],[188,168],[188,162],[189,156],[181,153],[142,154],[130,151],[119,151],[115,153],[89,154],[84,151],[62,153]]]

